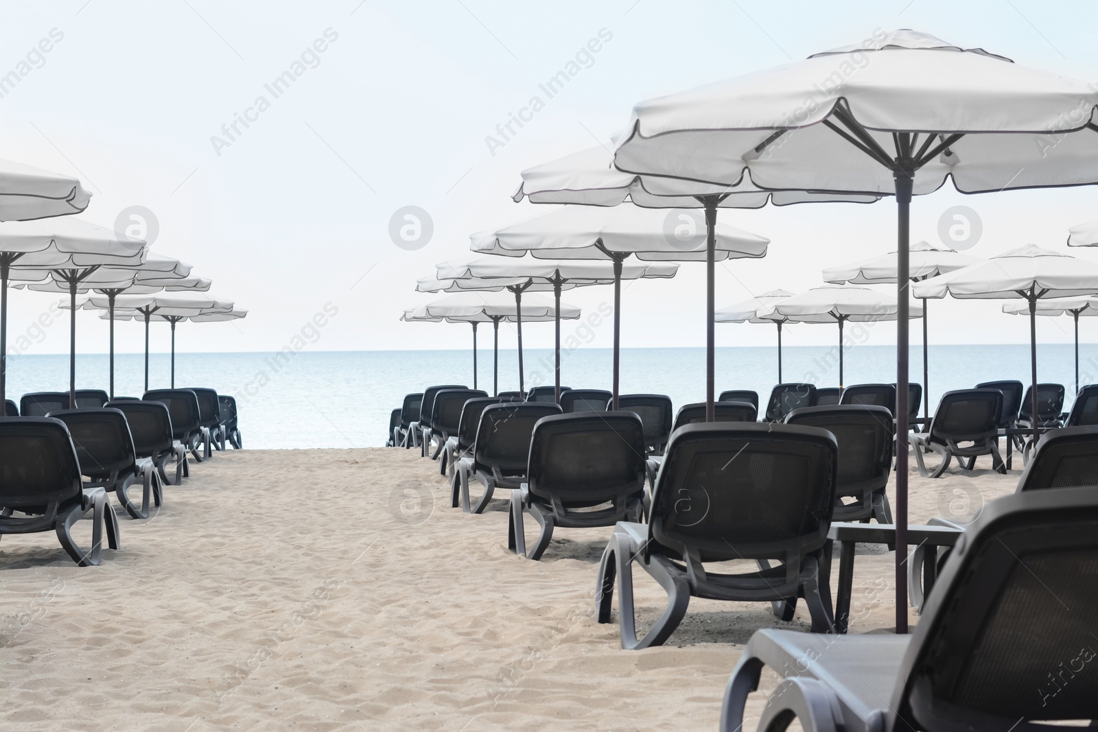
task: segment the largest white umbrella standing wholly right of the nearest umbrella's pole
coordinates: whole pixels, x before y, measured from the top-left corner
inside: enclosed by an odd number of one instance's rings
[[[1044,297],[1098,293],[1098,264],[1028,244],[972,267],[914,285],[916,297],[975,297],[1026,301],[1030,315],[1030,370],[1033,415],[1037,415],[1037,306]],[[1038,426],[1033,420],[1033,441]]]

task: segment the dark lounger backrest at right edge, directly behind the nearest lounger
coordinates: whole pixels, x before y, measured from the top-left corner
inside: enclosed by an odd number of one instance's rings
[[[1041,436],[1018,493],[1085,485],[1098,486],[1098,427],[1063,427]]]

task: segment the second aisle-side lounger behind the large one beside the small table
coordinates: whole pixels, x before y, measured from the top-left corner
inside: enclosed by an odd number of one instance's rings
[[[484,407],[477,426],[471,458],[458,461],[450,483],[450,505],[467,514],[480,514],[488,507],[496,488],[516,491],[526,481],[530,436],[542,417],[560,414],[552,402],[508,402]],[[473,504],[469,485],[477,481],[484,493]]]

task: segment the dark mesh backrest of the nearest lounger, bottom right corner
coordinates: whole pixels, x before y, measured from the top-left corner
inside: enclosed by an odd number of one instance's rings
[[[1043,730],[1061,728],[1022,721],[1098,717],[1096,577],[1098,492],[987,504],[928,596],[881,729]]]

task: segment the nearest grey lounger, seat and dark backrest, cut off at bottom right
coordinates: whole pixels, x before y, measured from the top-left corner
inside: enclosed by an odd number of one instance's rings
[[[720,729],[743,729],[763,666],[781,680],[759,730],[796,718],[806,732],[1051,732],[1064,728],[1040,722],[1098,719],[1093,679],[1078,676],[1094,673],[1083,669],[1095,661],[1096,566],[1094,488],[991,502],[912,634],[758,631],[728,682]]]

